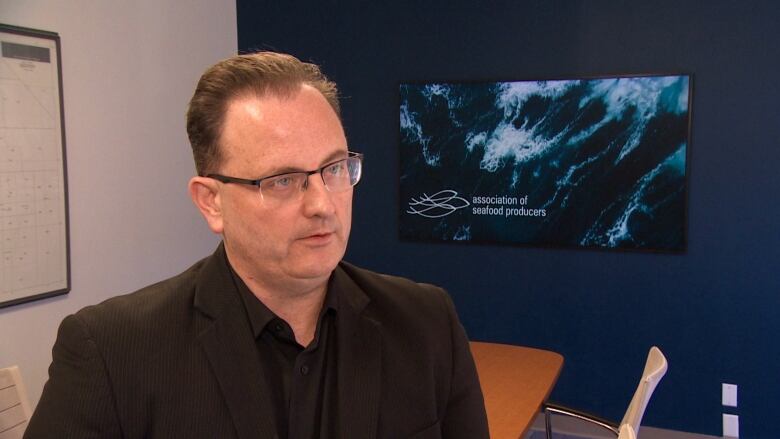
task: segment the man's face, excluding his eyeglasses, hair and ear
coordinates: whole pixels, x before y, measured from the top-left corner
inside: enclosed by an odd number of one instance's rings
[[[347,157],[336,113],[319,91],[306,85],[292,97],[234,99],[220,140],[218,172],[247,179],[311,171]],[[228,258],[243,276],[305,287],[325,282],[344,256],[352,189],[329,192],[314,174],[301,196],[274,206],[261,199],[255,186],[219,184],[217,196]]]

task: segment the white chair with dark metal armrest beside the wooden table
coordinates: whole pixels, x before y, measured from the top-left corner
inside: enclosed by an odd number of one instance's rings
[[[636,439],[639,435],[639,424],[642,423],[642,416],[645,414],[647,403],[653,395],[655,387],[661,381],[666,369],[668,368],[666,357],[660,349],[653,346],[647,355],[645,370],[642,373],[642,379],[639,381],[634,397],[628,405],[625,416],[620,424],[597,418],[589,413],[580,412],[571,408],[563,407],[553,403],[547,403],[544,407],[545,430],[547,439],[552,439],[552,421],[551,415],[563,415],[588,421],[592,424],[603,427],[618,437],[618,439]]]

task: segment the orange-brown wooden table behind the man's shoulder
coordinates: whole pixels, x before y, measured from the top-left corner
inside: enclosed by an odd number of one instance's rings
[[[491,439],[523,437],[558,380],[563,357],[555,352],[471,342]]]

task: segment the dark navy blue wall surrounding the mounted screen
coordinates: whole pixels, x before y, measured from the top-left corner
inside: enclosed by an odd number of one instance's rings
[[[780,410],[778,23],[770,1],[238,1],[241,50],[341,86],[367,156],[349,260],[445,286],[473,339],[562,353],[553,397],[603,416],[657,344],[670,369],[645,424],[719,435],[731,382],[759,439]],[[399,81],[673,72],[694,75],[686,254],[399,242]]]

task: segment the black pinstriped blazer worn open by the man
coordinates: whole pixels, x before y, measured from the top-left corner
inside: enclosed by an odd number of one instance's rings
[[[487,438],[463,328],[432,285],[341,263],[339,438]],[[66,317],[25,438],[277,437],[224,250]]]

